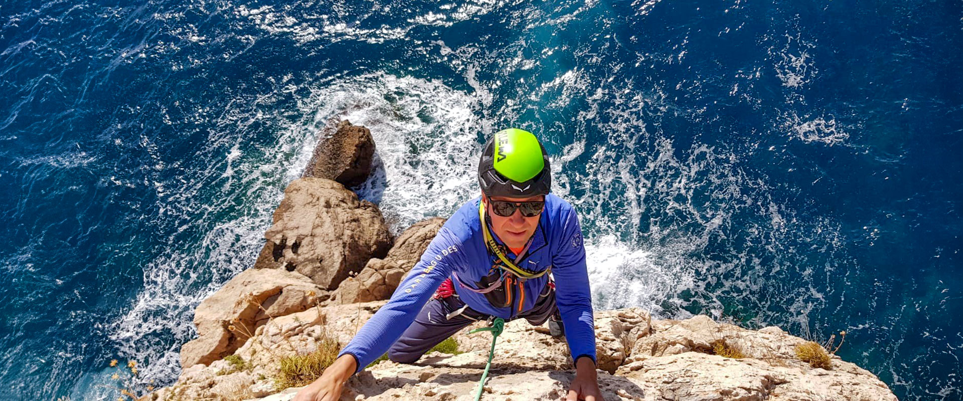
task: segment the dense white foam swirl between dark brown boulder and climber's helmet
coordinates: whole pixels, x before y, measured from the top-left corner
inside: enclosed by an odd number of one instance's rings
[[[393,231],[448,215],[477,195],[481,122],[477,97],[415,78],[373,74],[316,89],[315,122],[347,119],[371,130],[375,174],[360,188]]]

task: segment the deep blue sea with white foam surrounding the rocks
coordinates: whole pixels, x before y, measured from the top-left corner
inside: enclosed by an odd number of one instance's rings
[[[0,1],[0,399],[172,384],[330,121],[394,233],[534,132],[596,309],[824,341],[963,400],[963,2]]]

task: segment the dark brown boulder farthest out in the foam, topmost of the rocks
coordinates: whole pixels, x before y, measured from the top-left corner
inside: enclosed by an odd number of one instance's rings
[[[326,136],[325,136],[326,137]],[[347,187],[364,183],[371,174],[375,139],[371,131],[341,121],[329,138],[322,138],[302,177],[326,178]]]

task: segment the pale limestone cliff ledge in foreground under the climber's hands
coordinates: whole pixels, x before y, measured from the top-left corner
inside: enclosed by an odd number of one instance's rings
[[[315,341],[325,336],[335,336],[346,344],[383,304],[317,307],[276,317],[235,353],[253,363],[250,370],[219,377],[224,361],[196,365],[185,369],[175,386],[156,391],[157,395],[148,399],[176,399],[172,396],[175,390],[190,396],[185,399],[243,399],[247,393],[235,389],[246,383],[249,385],[243,390],[256,394],[251,397],[263,397],[260,401],[291,400],[300,388],[265,396],[268,386],[259,377],[270,377],[276,371],[276,358],[309,352]],[[596,313],[595,323],[600,364],[614,364],[619,359],[628,362],[615,369],[615,374],[598,371],[599,388],[609,401],[897,400],[872,373],[839,357],[833,357],[831,370],[796,360],[791,352],[803,339],[775,327],[746,330],[707,316],[652,320],[637,308]],[[491,336],[467,332],[481,324],[455,335],[462,353],[433,352],[413,364],[374,364],[349,380],[340,400],[473,400]],[[749,357],[737,360],[712,355],[711,348],[705,347],[719,339],[741,348]],[[689,351],[633,360],[633,353],[640,352],[644,344],[668,340]],[[482,399],[559,400],[574,379],[564,340],[549,336],[544,326],[533,327],[524,319],[510,321],[495,349]]]

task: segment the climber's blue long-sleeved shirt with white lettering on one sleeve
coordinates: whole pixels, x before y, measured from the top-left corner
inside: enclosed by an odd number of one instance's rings
[[[415,316],[428,302],[435,289],[455,272],[466,284],[481,281],[491,269],[493,256],[484,244],[479,217],[479,202],[475,198],[459,208],[429,243],[421,260],[391,295],[391,300],[357,333],[338,355],[351,354],[357,360],[357,371],[374,362],[388,351]],[[496,238],[497,239],[497,238]],[[509,259],[515,255],[508,253]],[[545,196],[545,210],[538,219],[529,252],[519,266],[531,271],[552,267],[556,285],[556,304],[565,326],[565,339],[572,361],[595,357],[595,326],[592,318],[591,295],[588,288],[586,249],[578,215],[568,202],[554,194]],[[534,307],[538,294],[545,287],[548,275],[530,279],[522,285],[525,290],[521,311]],[[455,291],[469,308],[508,319],[518,313],[518,301],[508,308],[491,305],[483,294],[459,288]]]

